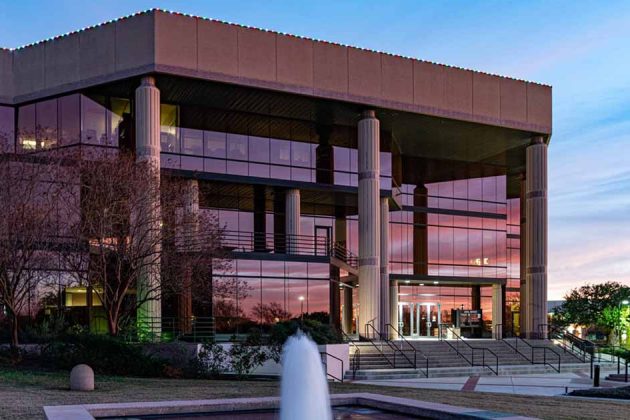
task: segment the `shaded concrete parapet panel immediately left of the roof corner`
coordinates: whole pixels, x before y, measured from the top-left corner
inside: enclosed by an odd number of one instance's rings
[[[116,70],[128,70],[155,62],[154,14],[116,21]]]

